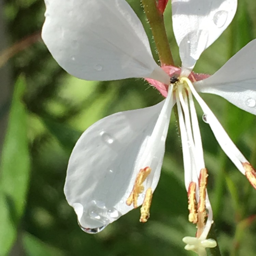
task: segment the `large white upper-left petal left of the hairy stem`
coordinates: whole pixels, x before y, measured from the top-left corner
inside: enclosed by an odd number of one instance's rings
[[[45,0],[42,38],[59,65],[85,80],[149,77],[169,84],[125,0]],[[154,75],[152,76],[152,73]]]

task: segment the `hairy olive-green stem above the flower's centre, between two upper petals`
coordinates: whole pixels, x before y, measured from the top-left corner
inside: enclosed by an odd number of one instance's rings
[[[156,0],[142,0],[142,4],[152,29],[161,66],[173,66],[174,62],[165,30],[165,23],[163,22],[163,15],[157,9]]]

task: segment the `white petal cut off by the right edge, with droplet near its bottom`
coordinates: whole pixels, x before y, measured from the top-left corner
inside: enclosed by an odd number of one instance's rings
[[[215,74],[196,82],[202,93],[217,94],[256,115],[256,40],[244,46]]]

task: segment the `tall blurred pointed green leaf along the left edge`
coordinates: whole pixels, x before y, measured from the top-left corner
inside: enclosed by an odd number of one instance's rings
[[[25,79],[14,88],[9,123],[0,166],[0,255],[8,254],[16,239],[16,229],[26,204],[30,173],[27,113],[22,102]]]

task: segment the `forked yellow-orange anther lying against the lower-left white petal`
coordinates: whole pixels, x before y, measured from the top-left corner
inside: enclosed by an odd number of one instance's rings
[[[150,174],[150,172],[151,172],[150,167],[145,167],[144,169],[140,169],[139,173],[136,176],[131,194],[126,200],[127,205],[131,205],[133,203],[134,208],[138,207],[138,203],[137,203],[138,197],[144,190],[144,186],[142,185],[142,183],[145,181],[145,179]]]

